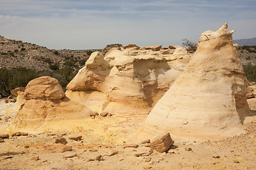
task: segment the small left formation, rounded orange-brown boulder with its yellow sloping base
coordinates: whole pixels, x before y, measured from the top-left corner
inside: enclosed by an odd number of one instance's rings
[[[58,80],[51,77],[31,80],[23,96],[26,101],[19,108],[10,131],[60,127],[62,120],[87,118],[92,113],[89,108],[65,97]]]

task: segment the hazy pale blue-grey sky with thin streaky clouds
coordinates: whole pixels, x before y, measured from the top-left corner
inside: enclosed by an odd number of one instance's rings
[[[223,23],[256,37],[255,0],[0,0],[0,35],[50,49],[181,45]]]

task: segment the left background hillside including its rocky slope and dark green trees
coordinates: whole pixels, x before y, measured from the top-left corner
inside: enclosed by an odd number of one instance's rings
[[[65,86],[84,67],[95,50],[50,50],[36,44],[9,40],[0,35],[0,98],[41,76],[58,79]]]

